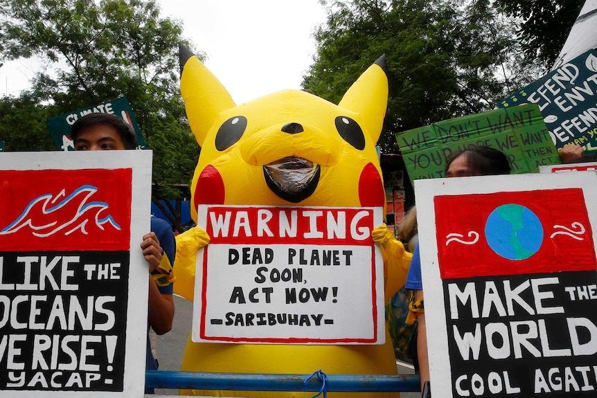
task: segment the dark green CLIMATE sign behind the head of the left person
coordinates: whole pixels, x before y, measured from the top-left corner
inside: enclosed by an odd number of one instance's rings
[[[93,105],[92,107],[77,109],[76,111],[72,111],[68,114],[47,119],[46,125],[48,125],[50,134],[52,135],[54,143],[59,150],[75,150],[73,140],[71,140],[71,126],[78,120],[78,118],[87,114],[114,114],[116,116],[120,116],[125,120],[125,122],[133,127],[137,136],[137,149],[147,149],[145,139],[143,139],[143,134],[141,134],[141,129],[139,129],[139,125],[137,124],[137,120],[133,114],[129,100],[126,97],[121,97],[117,100],[103,102],[98,105]]]

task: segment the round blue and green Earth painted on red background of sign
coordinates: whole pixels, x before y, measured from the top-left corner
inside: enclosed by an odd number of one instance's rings
[[[525,206],[508,203],[491,212],[485,222],[485,239],[490,248],[508,260],[526,260],[543,243],[543,226]]]

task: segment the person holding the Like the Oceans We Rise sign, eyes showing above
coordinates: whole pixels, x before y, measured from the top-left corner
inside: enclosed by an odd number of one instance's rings
[[[123,119],[111,114],[83,116],[73,124],[71,138],[75,151],[134,150],[137,146],[134,130]],[[143,235],[141,249],[150,271],[148,323],[157,334],[165,334],[172,329],[175,312],[172,300],[175,277],[171,264],[174,264],[176,246],[170,225],[152,216],[151,232]],[[151,354],[149,342],[146,369],[157,370],[157,360]]]

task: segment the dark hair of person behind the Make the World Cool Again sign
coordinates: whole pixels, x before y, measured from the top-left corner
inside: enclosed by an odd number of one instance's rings
[[[470,146],[465,150],[453,152],[446,159],[447,172],[450,163],[458,156],[465,155],[468,166],[475,176],[494,176],[499,174],[510,174],[510,162],[508,157],[499,150],[492,147]]]

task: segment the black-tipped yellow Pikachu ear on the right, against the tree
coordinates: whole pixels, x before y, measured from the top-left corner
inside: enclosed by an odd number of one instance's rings
[[[388,76],[386,75],[386,55],[368,67],[359,79],[350,86],[338,104],[361,116],[364,131],[374,143],[380,138],[384,116],[388,107]]]

